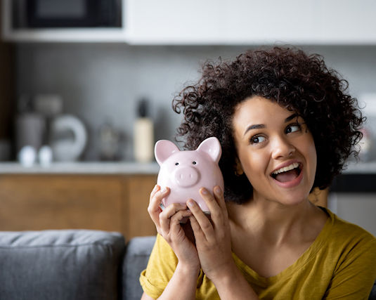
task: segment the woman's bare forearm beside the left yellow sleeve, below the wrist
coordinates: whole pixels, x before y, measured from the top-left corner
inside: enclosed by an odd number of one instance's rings
[[[200,269],[178,263],[174,275],[158,299],[195,299],[199,272]]]

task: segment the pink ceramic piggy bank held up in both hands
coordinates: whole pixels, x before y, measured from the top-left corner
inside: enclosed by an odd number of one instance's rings
[[[202,211],[209,213],[199,190],[204,187],[212,192],[215,185],[223,190],[223,176],[218,165],[221,153],[221,144],[215,137],[207,138],[193,151],[180,151],[171,141],[157,141],[155,158],[160,164],[157,184],[170,188],[169,195],[162,200],[163,206],[176,202],[185,204],[193,199]]]

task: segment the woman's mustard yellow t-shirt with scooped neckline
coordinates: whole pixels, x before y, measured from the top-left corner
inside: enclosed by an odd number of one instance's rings
[[[376,238],[324,210],[329,218],[316,240],[278,275],[264,278],[233,254],[260,299],[368,299],[376,279]],[[148,267],[140,277],[144,292],[157,299],[177,263],[169,244],[157,235]],[[196,299],[220,299],[216,287],[202,271],[197,279]]]

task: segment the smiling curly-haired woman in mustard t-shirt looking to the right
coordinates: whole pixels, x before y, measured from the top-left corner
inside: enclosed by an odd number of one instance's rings
[[[161,211],[169,189],[155,186],[143,299],[368,298],[375,237],[308,200],[358,154],[363,117],[346,89],[320,56],[291,48],[204,65],[174,109],[187,149],[219,138],[225,190],[200,190],[209,220],[188,195]]]

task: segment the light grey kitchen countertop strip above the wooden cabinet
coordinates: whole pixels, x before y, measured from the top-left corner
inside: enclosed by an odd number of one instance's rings
[[[157,162],[54,162],[48,167],[0,162],[0,174],[157,174],[159,170]],[[351,162],[343,174],[376,174],[376,162]]]

